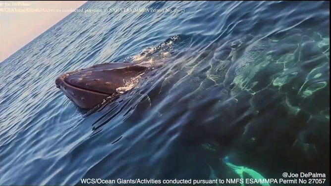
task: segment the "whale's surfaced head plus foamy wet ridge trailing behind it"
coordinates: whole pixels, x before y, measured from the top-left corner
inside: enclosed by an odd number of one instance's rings
[[[133,56],[132,62],[103,63],[64,73],[56,78],[56,87],[78,107],[94,108],[108,97],[116,98],[131,90],[149,69],[163,66],[163,59],[170,54],[169,48],[178,39],[176,35],[159,46],[147,47]]]

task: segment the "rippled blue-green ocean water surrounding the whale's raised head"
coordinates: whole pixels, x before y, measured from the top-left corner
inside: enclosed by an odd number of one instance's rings
[[[0,63],[1,186],[283,172],[330,184],[330,2],[80,8]],[[55,87],[62,73],[138,59],[160,65],[92,110]]]

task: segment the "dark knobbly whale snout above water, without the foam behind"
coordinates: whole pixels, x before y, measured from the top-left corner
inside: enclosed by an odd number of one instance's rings
[[[55,84],[77,106],[89,109],[109,96],[123,93],[127,82],[147,69],[128,62],[104,63],[62,74]]]

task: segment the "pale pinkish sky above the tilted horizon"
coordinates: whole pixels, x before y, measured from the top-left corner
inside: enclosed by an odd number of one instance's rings
[[[85,2],[0,1],[0,62]]]

